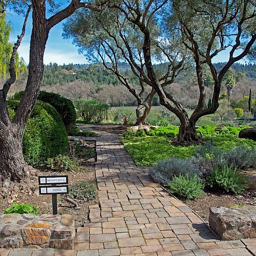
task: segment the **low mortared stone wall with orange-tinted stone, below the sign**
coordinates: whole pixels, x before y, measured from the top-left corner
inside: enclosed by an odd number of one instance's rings
[[[68,214],[0,216],[0,248],[73,249],[74,238],[75,221]]]

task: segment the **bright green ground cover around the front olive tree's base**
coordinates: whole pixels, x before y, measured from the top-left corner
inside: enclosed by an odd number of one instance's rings
[[[222,151],[229,151],[232,147],[244,145],[255,147],[256,142],[250,139],[240,139],[231,137],[212,136],[205,140],[212,140],[215,146]],[[126,150],[134,158],[139,166],[152,166],[159,160],[166,160],[170,157],[190,158],[198,146],[173,146],[171,140],[166,137],[146,136],[146,137],[121,137]]]

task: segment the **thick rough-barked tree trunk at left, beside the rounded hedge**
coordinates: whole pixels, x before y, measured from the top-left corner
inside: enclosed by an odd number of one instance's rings
[[[49,28],[45,19],[45,6],[33,1],[33,29],[30,42],[29,75],[24,96],[16,110],[13,121],[8,118],[0,120],[0,177],[2,180],[20,181],[29,175],[28,165],[24,161],[22,141],[26,123],[33,110],[40,92],[40,84],[44,72],[44,52]],[[3,95],[3,91],[1,92]],[[5,97],[1,101],[6,105]]]

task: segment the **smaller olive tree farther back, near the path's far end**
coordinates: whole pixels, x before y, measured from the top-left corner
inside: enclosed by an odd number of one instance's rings
[[[153,16],[166,3],[167,1],[157,3],[151,10]],[[144,12],[145,16],[148,15],[147,6],[147,4],[140,5],[141,12]],[[90,26],[84,26],[88,20]],[[158,62],[168,61],[166,70],[160,71],[156,67],[154,70],[157,81],[165,87],[172,84],[184,68],[184,58],[177,48],[170,50],[172,44],[169,40],[160,40],[163,31],[153,17],[148,20],[148,29],[152,37],[152,58]],[[122,10],[113,6],[90,17],[87,11],[77,11],[68,19],[64,31],[65,37],[74,39],[74,44],[80,48],[80,52],[83,52],[88,59],[102,63],[105,71],[115,74],[132,93],[137,100],[136,124],[145,123],[156,90],[145,66],[144,34],[141,30],[127,19]],[[130,65],[132,77],[120,71],[119,65],[123,62]]]

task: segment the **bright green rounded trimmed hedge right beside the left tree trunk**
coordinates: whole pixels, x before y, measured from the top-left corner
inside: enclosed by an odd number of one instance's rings
[[[8,101],[10,117],[18,104],[17,100]],[[40,165],[49,157],[65,154],[68,149],[68,135],[60,115],[50,104],[36,101],[23,138],[23,155],[26,162]]]

